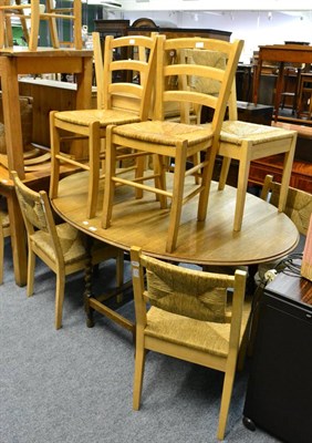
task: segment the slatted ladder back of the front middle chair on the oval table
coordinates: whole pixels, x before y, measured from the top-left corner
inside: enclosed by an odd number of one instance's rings
[[[242,44],[200,38],[166,40],[159,35],[155,117],[164,119],[168,102],[179,102],[181,115],[186,114],[186,103],[189,110],[206,106],[212,110],[211,124],[218,136]]]

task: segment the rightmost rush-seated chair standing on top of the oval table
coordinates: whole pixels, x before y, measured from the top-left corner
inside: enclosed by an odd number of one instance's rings
[[[190,54],[188,54],[190,55]],[[211,64],[218,61],[218,58],[210,51],[193,51],[190,63],[198,62]],[[186,59],[186,62],[189,62]],[[221,65],[221,62],[218,62]],[[218,93],[218,85],[215,83],[190,82],[190,87],[202,93]],[[237,183],[237,200],[233,218],[233,230],[239,231],[242,226],[243,208],[246,202],[246,193],[248,187],[248,176],[250,163],[258,158],[268,157],[275,154],[284,154],[284,167],[282,176],[282,187],[279,200],[279,210],[283,212],[293,155],[297,143],[297,132],[284,130],[281,127],[272,127],[256,123],[238,121],[236,83],[231,87],[231,94],[228,103],[229,119],[222,123],[219,141],[218,154],[223,157],[221,173],[219,177],[219,190],[222,190],[227,183],[228,172],[231,159],[239,162],[238,183]],[[198,110],[200,112],[200,109]],[[209,126],[210,124],[208,124]]]

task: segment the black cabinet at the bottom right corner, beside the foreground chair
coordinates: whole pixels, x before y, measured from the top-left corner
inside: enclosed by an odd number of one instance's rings
[[[280,274],[260,301],[243,410],[248,427],[288,443],[311,442],[311,342],[312,282]]]

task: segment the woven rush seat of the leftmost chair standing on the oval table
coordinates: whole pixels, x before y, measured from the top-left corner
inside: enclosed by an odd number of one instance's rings
[[[90,123],[100,122],[101,126],[108,124],[126,124],[139,122],[139,117],[133,112],[122,110],[80,110],[56,112],[55,119],[62,122],[73,123],[80,126],[89,126]]]

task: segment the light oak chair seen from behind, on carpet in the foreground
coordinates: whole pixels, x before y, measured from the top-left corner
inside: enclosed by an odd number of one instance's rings
[[[238,358],[242,367],[248,342],[251,305],[245,301],[246,272],[187,269],[147,257],[138,247],[131,249],[131,260],[136,313],[134,410],[139,409],[148,350],[212,368],[225,373],[217,433],[222,440]],[[228,288],[233,288],[231,295]]]

